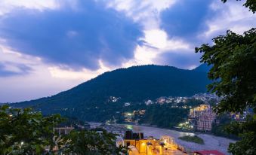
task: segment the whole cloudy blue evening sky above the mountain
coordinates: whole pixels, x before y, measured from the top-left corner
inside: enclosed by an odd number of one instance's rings
[[[194,48],[256,27],[242,2],[1,0],[0,102],[69,90],[132,65],[200,65]]]

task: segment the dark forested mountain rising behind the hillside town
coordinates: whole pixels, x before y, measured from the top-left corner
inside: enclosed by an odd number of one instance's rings
[[[44,114],[60,113],[95,120],[97,118],[91,115],[98,111],[119,111],[125,102],[139,104],[160,96],[205,93],[208,83],[205,71],[141,65],[108,71],[57,95],[14,103],[13,106],[33,107]],[[109,99],[116,101],[109,102]]]

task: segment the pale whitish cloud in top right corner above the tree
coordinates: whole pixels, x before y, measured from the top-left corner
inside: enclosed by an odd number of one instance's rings
[[[205,20],[207,29],[199,35],[200,38],[214,38],[224,35],[227,29],[242,34],[252,27],[256,27],[256,14],[249,12],[242,6],[243,2],[213,2],[211,10],[217,12],[215,16]]]

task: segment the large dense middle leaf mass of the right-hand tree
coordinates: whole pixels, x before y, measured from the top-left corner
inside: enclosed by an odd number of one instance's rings
[[[218,112],[242,112],[256,105],[256,29],[243,35],[227,31],[213,39],[214,45],[202,44],[196,52],[204,53],[201,62],[212,65],[208,86],[212,93],[224,96]]]

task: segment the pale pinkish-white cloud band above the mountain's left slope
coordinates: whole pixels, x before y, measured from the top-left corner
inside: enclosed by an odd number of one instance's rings
[[[109,68],[104,67],[97,71],[65,70],[38,57],[0,46],[0,102],[21,102],[52,96],[108,71]]]

